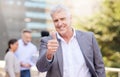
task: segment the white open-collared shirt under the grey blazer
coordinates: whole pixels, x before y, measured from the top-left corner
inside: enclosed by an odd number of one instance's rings
[[[76,33],[67,43],[58,33],[63,51],[63,77],[91,77],[85,59],[76,39]]]

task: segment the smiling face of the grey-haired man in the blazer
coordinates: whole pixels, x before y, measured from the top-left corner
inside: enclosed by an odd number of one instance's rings
[[[55,12],[52,15],[52,20],[55,25],[56,31],[60,35],[67,34],[70,27],[71,27],[71,17],[64,11],[61,12]]]

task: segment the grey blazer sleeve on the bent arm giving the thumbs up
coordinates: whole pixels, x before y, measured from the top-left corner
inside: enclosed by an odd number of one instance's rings
[[[46,52],[47,52],[47,41],[46,38],[42,38],[40,42],[40,50],[39,50],[39,58],[36,63],[37,69],[40,72],[45,72],[50,69],[52,66],[53,61],[48,61],[46,58]]]

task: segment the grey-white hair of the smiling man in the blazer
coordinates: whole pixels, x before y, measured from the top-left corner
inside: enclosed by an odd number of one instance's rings
[[[57,12],[57,13],[59,13],[59,12],[66,12],[66,13],[68,14],[68,16],[71,15],[70,10],[69,10],[67,7],[65,7],[64,5],[61,5],[61,4],[56,5],[55,7],[53,7],[53,8],[50,10],[50,15],[51,15],[51,17],[52,17],[52,15],[53,15],[55,12]]]

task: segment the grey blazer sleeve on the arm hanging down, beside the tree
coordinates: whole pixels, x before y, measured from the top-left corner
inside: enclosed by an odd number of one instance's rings
[[[106,77],[102,55],[101,55],[98,43],[94,37],[94,34],[92,35],[92,43],[93,43],[93,51],[94,51],[95,72],[97,73],[98,77]]]

